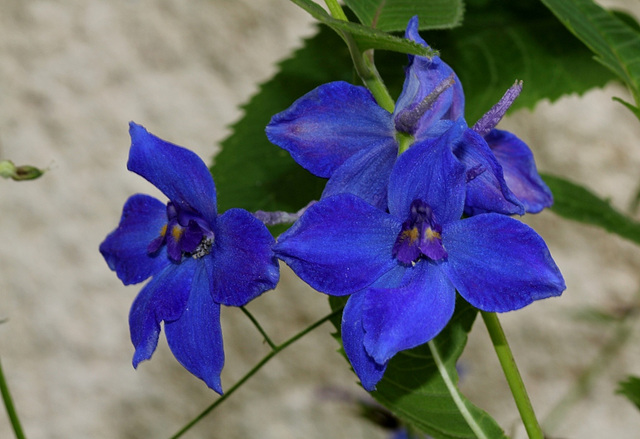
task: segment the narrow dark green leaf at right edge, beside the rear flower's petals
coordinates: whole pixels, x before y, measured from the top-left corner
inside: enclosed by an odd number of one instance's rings
[[[543,174],[553,193],[551,211],[574,221],[602,227],[608,232],[640,244],[640,223],[611,207],[588,189],[561,177]]]

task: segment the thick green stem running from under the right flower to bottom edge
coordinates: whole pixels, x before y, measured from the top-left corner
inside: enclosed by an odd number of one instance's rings
[[[480,311],[484,324],[487,326],[491,342],[500,360],[500,365],[504,372],[504,376],[507,379],[513,399],[516,402],[520,417],[524,423],[524,428],[527,430],[527,435],[530,439],[544,439],[544,434],[536,418],[536,414],[533,411],[531,400],[527,394],[527,389],[524,387],[522,377],[518,371],[518,366],[513,358],[513,353],[507,343],[507,338],[504,335],[498,316],[492,312]]]

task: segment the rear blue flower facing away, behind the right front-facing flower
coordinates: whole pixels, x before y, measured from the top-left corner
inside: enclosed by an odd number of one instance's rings
[[[417,17],[409,21],[405,36],[427,46],[418,33]],[[410,55],[393,114],[378,106],[366,88],[338,81],[317,87],[276,114],[266,132],[305,169],[329,179],[323,197],[349,192],[384,209],[399,149],[457,124],[464,129],[452,139],[451,148],[467,169],[467,214],[537,212],[552,198],[529,148],[512,134],[493,132],[513,99],[491,109],[479,133],[467,127],[464,93],[451,67],[438,56]],[[494,155],[492,149],[505,154]],[[512,171],[508,184],[503,167]],[[522,190],[516,195],[511,187]]]

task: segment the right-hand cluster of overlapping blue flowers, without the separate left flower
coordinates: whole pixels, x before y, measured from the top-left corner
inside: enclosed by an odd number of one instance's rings
[[[414,18],[406,36],[426,45],[417,29]],[[336,82],[267,127],[273,143],[329,179],[274,251],[316,290],[350,295],[342,340],[365,389],[396,353],[446,326],[456,291],[504,312],[565,289],[542,238],[508,216],[552,202],[527,145],[495,129],[519,87],[469,128],[452,69],[411,56],[393,114],[366,89]]]

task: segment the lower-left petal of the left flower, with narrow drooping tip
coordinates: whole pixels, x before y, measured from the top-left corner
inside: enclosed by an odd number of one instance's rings
[[[187,305],[195,263],[171,264],[138,293],[129,312],[129,331],[136,351],[133,367],[151,358],[158,344],[160,322],[180,318]]]

